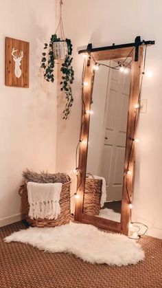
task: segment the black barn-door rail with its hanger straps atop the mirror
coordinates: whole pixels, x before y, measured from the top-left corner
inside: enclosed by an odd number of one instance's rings
[[[128,43],[128,44],[115,45],[115,43],[113,43],[113,45],[111,45],[111,46],[93,48],[92,44],[89,43],[89,45],[87,46],[86,49],[80,50],[78,53],[79,54],[88,53],[90,55],[91,52],[99,52],[99,51],[104,51],[104,50],[113,50],[113,49],[119,49],[119,48],[125,48],[125,47],[135,47],[135,61],[138,61],[139,46],[141,46],[141,45],[154,45],[154,41],[152,41],[152,40],[148,40],[148,41],[143,40],[143,41],[141,41],[141,37],[137,36],[135,38],[135,42],[134,43]]]

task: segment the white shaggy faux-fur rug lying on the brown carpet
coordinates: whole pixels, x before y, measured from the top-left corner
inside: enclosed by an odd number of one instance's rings
[[[136,264],[143,260],[141,246],[122,234],[106,233],[93,225],[69,223],[56,228],[28,228],[5,237],[45,252],[73,253],[89,263]]]

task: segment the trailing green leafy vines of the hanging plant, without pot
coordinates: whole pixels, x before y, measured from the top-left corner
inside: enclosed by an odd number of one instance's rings
[[[55,66],[55,59],[54,59],[54,52],[53,52],[53,43],[62,41],[60,38],[57,37],[56,34],[51,35],[49,45],[45,43],[44,49],[47,49],[47,52],[43,52],[42,64],[41,67],[44,69],[44,78],[47,82],[54,82],[54,66]],[[65,109],[63,111],[63,119],[67,119],[67,116],[70,113],[70,108],[73,105],[73,94],[71,89],[71,84],[73,84],[74,80],[74,71],[73,67],[71,66],[73,58],[71,57],[72,54],[72,44],[70,39],[65,39],[67,42],[67,49],[68,55],[65,57],[64,63],[60,68],[62,72],[62,81],[60,82],[60,90],[65,92],[66,95],[66,104]]]

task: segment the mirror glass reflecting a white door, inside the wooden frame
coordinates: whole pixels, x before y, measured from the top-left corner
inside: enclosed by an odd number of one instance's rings
[[[97,68],[83,212],[120,222],[131,58],[98,61]]]

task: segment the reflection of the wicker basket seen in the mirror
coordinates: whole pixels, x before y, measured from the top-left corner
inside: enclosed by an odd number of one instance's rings
[[[84,190],[83,212],[98,215],[100,212],[100,199],[102,194],[102,179],[86,178]]]

